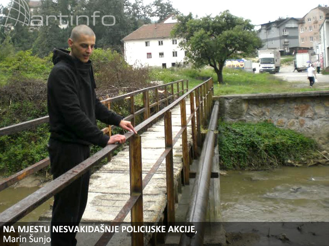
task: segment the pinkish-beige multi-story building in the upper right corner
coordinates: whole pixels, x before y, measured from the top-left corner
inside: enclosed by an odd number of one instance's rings
[[[307,47],[319,54],[320,27],[323,24],[329,7],[316,7],[311,9],[299,22],[300,46]]]

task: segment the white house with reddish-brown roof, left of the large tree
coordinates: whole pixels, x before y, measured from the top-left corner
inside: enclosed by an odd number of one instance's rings
[[[176,23],[175,16],[170,15],[162,23],[143,25],[124,37],[126,62],[163,68],[187,64],[185,51],[178,47],[180,40],[170,35]]]

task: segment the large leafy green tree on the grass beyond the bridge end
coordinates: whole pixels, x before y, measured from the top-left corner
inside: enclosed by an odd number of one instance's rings
[[[186,56],[195,67],[213,67],[219,83],[223,83],[225,60],[248,55],[262,46],[250,20],[234,16],[229,10],[215,17],[194,19],[190,13],[177,19],[179,23],[172,34],[182,38],[179,46],[187,51]]]

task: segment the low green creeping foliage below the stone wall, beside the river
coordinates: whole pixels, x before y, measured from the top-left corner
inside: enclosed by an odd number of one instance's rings
[[[219,122],[219,155],[223,169],[258,169],[299,161],[315,142],[272,123]]]

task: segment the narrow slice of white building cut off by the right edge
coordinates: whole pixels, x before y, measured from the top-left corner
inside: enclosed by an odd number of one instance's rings
[[[324,23],[320,27],[320,62],[323,68],[329,67],[329,14],[326,14]]]

